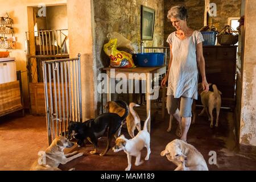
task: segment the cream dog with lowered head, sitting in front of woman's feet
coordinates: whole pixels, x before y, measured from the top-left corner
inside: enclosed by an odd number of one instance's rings
[[[175,139],[168,143],[160,155],[176,164],[175,171],[208,171],[203,155],[183,140]]]

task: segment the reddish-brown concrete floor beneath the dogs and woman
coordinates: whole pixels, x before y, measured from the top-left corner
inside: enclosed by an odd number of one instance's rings
[[[142,120],[145,115],[138,114]],[[197,110],[197,113],[200,109]],[[134,166],[132,159],[131,170],[174,170],[175,165],[161,157],[160,152],[166,144],[176,139],[176,121],[173,122],[171,133],[167,133],[168,115],[163,120],[159,114],[154,114],[155,121],[151,122],[151,155],[150,160],[141,166]],[[203,154],[209,170],[256,170],[255,148],[247,147],[245,150],[237,150],[233,135],[233,113],[221,110],[220,124],[217,129],[210,129],[207,117],[197,117],[196,123],[191,125],[188,133],[188,143],[192,144]],[[26,115],[20,117],[19,113],[10,114],[0,118],[0,170],[28,170],[37,159],[38,151],[47,148],[46,119]],[[126,129],[122,133],[127,134]],[[103,151],[106,140],[100,140],[99,151]],[[114,143],[113,143],[114,144]],[[60,165],[63,170],[75,167],[76,170],[100,170],[100,171],[123,171],[127,167],[126,154],[123,151],[114,153],[109,151],[108,155],[90,155],[92,145],[86,145],[79,151],[84,156]],[[210,165],[209,152],[216,151],[217,165]],[[142,159],[146,156],[146,148],[142,151]]]

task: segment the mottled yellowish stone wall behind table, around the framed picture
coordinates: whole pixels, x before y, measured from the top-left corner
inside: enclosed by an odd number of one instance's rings
[[[109,57],[103,51],[109,32],[118,32],[131,40],[135,51],[141,52],[141,5],[155,9],[154,39],[144,41],[144,46],[163,46],[163,0],[94,0],[93,3],[96,75],[102,72],[101,68],[109,66]],[[102,96],[97,95],[98,113],[106,101],[106,97]]]

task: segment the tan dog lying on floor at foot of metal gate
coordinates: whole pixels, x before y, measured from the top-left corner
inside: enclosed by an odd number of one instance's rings
[[[69,142],[65,137],[57,137],[53,140],[52,144],[46,149],[45,155],[39,156],[39,158],[32,164],[31,171],[61,171],[58,168],[59,164],[66,164],[73,159],[79,158],[83,155],[82,152],[72,152],[70,154],[64,154],[64,148],[70,148],[74,143]],[[44,158],[44,159],[43,159]],[[39,162],[42,164],[39,164]],[[73,169],[69,169],[73,170]]]

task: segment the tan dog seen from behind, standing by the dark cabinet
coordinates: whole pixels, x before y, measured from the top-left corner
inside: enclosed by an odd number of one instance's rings
[[[212,86],[212,88],[211,88]],[[206,111],[209,121],[210,127],[213,127],[213,115],[212,111],[216,108],[216,124],[218,127],[218,116],[220,115],[220,107],[221,107],[221,92],[217,89],[216,85],[209,84],[209,91],[207,93],[203,92],[203,86],[201,83],[198,84],[197,88],[199,89],[199,94],[201,96],[201,102],[204,105],[204,109],[201,111],[199,115],[203,115],[204,111]],[[213,92],[210,91],[213,89]],[[209,111],[209,112],[208,112]]]

